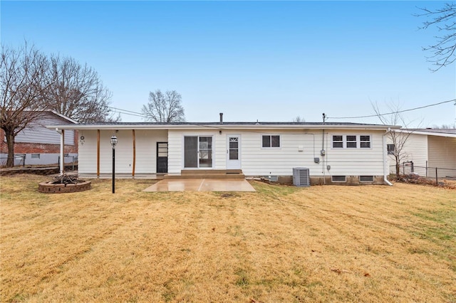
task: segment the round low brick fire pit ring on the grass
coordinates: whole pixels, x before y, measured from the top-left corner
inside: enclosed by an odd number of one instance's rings
[[[56,176],[53,181],[38,184],[41,193],[76,193],[90,189],[90,181],[78,180],[78,176],[63,174]]]

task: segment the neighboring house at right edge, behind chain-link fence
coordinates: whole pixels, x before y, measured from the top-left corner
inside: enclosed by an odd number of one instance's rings
[[[402,135],[409,134],[401,154],[401,174],[413,172],[420,176],[435,178],[437,176],[456,177],[456,129],[398,129],[395,132]],[[388,138],[388,154],[393,144]],[[388,156],[391,172],[395,174],[395,160]]]

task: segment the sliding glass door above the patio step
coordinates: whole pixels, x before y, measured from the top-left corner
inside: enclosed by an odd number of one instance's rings
[[[184,167],[195,169],[212,167],[212,137],[184,137]]]

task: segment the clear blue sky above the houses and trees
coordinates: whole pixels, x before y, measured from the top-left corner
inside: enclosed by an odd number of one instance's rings
[[[378,123],[331,119],[456,98],[456,65],[435,73],[418,7],[444,1],[1,1],[1,43],[87,63],[111,105],[140,112],[150,91],[177,90],[187,121]],[[404,113],[452,124],[453,102]],[[124,122],[142,121],[123,115]]]

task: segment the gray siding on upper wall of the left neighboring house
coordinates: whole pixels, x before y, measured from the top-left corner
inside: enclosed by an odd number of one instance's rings
[[[46,112],[36,122],[28,125],[24,130],[17,134],[14,141],[16,143],[44,143],[60,144],[60,134],[55,129],[47,129],[45,125],[68,123],[68,120]],[[65,144],[74,145],[74,130],[65,131]]]

